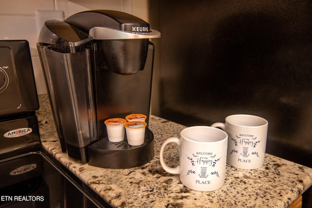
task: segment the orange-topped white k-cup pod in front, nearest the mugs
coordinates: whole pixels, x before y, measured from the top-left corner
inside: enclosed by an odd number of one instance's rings
[[[139,146],[144,143],[146,126],[147,123],[144,121],[129,121],[124,124],[129,145]]]

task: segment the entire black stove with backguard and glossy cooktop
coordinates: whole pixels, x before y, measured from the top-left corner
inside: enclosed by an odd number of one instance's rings
[[[0,208],[110,207],[41,147],[29,44],[0,41]]]

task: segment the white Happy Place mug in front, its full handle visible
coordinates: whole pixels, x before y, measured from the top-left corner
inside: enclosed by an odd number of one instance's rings
[[[208,126],[188,127],[180,138],[168,138],[160,148],[160,163],[164,170],[180,174],[187,188],[212,191],[224,184],[228,135]],[[165,146],[171,142],[180,145],[179,165],[170,168],[164,161]],[[174,150],[170,150],[174,151]]]

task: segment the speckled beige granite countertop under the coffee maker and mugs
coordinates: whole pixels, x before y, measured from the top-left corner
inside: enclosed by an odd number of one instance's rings
[[[184,187],[178,175],[165,172],[159,162],[163,141],[179,136],[185,126],[151,116],[150,130],[155,135],[155,157],[131,169],[103,169],[80,164],[61,152],[47,95],[39,95],[37,111],[43,147],[64,166],[114,207],[127,208],[287,208],[312,185],[312,169],[266,154],[257,170],[239,170],[227,165],[224,186],[211,192]],[[166,160],[176,166],[178,146],[167,146]]]

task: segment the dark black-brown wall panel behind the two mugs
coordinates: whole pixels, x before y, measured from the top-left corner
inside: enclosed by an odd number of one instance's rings
[[[312,167],[312,2],[151,1],[152,113],[186,126],[269,121],[267,152]]]

